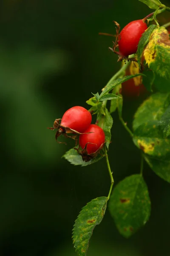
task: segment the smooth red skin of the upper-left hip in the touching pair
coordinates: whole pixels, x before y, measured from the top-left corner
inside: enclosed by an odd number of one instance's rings
[[[75,106],[64,113],[60,125],[83,133],[91,124],[91,119],[91,113],[87,109]]]

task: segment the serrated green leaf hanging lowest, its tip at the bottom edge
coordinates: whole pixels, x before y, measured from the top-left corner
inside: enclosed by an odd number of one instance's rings
[[[96,225],[102,221],[107,206],[107,197],[93,199],[82,208],[73,229],[73,243],[78,256],[86,256],[89,240]]]

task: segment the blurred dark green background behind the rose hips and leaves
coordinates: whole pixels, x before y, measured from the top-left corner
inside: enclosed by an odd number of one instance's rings
[[[47,127],[74,105],[88,108],[91,92],[119,70],[112,38],[98,32],[114,34],[113,20],[123,27],[150,12],[138,0],[0,1],[0,256],[76,255],[74,220],[88,201],[108,195],[110,178],[105,159],[88,167],[64,160],[73,142],[57,144]],[[141,102],[124,102],[129,126]],[[139,151],[116,113],[109,157],[115,183],[139,173]],[[170,255],[170,185],[146,164],[144,179],[150,221],[124,239],[106,210],[88,256]]]

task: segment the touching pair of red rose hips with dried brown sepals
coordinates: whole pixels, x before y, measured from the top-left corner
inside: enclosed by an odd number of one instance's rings
[[[56,140],[61,134],[67,138],[75,139],[76,145],[77,140],[79,140],[79,146],[75,150],[82,155],[83,161],[88,162],[97,156],[105,143],[103,129],[96,124],[91,124],[91,120],[91,113],[87,109],[75,106],[69,108],[62,119],[56,119],[53,127],[49,129],[57,129]]]

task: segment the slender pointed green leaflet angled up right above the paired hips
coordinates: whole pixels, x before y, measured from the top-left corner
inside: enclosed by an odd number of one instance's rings
[[[122,84],[123,82],[136,77],[136,76],[144,76],[143,74],[135,74],[135,75],[130,75],[130,76],[124,76],[123,78],[118,78],[114,81],[112,81],[108,86],[105,87],[105,89],[102,91],[102,93],[99,96],[99,100],[102,98],[103,95],[108,93],[110,90],[112,90],[114,87],[118,86],[119,84]]]

